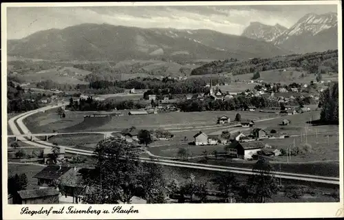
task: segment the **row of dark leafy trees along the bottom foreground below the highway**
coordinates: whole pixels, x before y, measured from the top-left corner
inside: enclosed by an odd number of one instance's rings
[[[133,196],[146,199],[148,203],[165,203],[166,195],[180,202],[189,200],[206,202],[211,190],[207,181],[197,181],[191,175],[184,183],[176,179],[166,181],[164,170],[157,163],[138,162],[139,149],[133,144],[107,139],[94,151],[94,169],[83,173],[83,192],[86,203],[130,203]],[[260,159],[247,182],[239,184],[235,176],[226,173],[211,179],[219,190],[219,196],[226,201],[235,199],[240,202],[266,202],[279,190],[272,166]]]

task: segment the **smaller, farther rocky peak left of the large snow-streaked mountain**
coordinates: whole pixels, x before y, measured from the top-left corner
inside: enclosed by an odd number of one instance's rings
[[[241,36],[246,36],[250,39],[256,39],[259,41],[273,42],[287,30],[288,28],[283,27],[278,23],[272,26],[259,22],[251,22]]]

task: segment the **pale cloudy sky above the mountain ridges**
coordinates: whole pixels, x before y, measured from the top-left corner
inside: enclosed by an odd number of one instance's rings
[[[139,28],[210,29],[241,34],[250,22],[290,28],[308,13],[336,12],[336,5],[189,5],[7,8],[8,39],[80,23]]]

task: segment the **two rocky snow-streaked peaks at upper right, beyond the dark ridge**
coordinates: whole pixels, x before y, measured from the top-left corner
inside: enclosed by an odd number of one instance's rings
[[[280,28],[276,28],[273,32],[272,28],[261,28],[268,25],[260,26],[251,23],[242,35],[251,39],[265,39],[267,42],[295,53],[321,52],[338,49],[337,25],[336,13],[310,13],[305,14],[291,28],[283,32],[280,31]],[[275,38],[271,40],[271,36],[275,36]]]

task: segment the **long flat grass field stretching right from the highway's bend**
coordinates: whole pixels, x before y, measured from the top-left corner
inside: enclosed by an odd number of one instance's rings
[[[59,118],[54,111],[38,113],[29,116],[24,120],[32,133],[55,131],[117,131],[130,126],[136,126],[139,129],[153,129],[161,127],[183,128],[190,126],[208,126],[216,125],[217,117],[227,115],[235,118],[237,111],[204,111],[204,112],[169,112],[151,115],[127,115],[128,111],[120,111],[124,115],[113,117],[111,120],[99,119],[98,122],[84,122],[84,115],[90,112],[69,111],[66,118]],[[96,113],[96,112],[94,112]],[[241,118],[258,120],[275,116],[271,113],[259,112],[240,112]],[[98,119],[97,119],[98,120]]]

